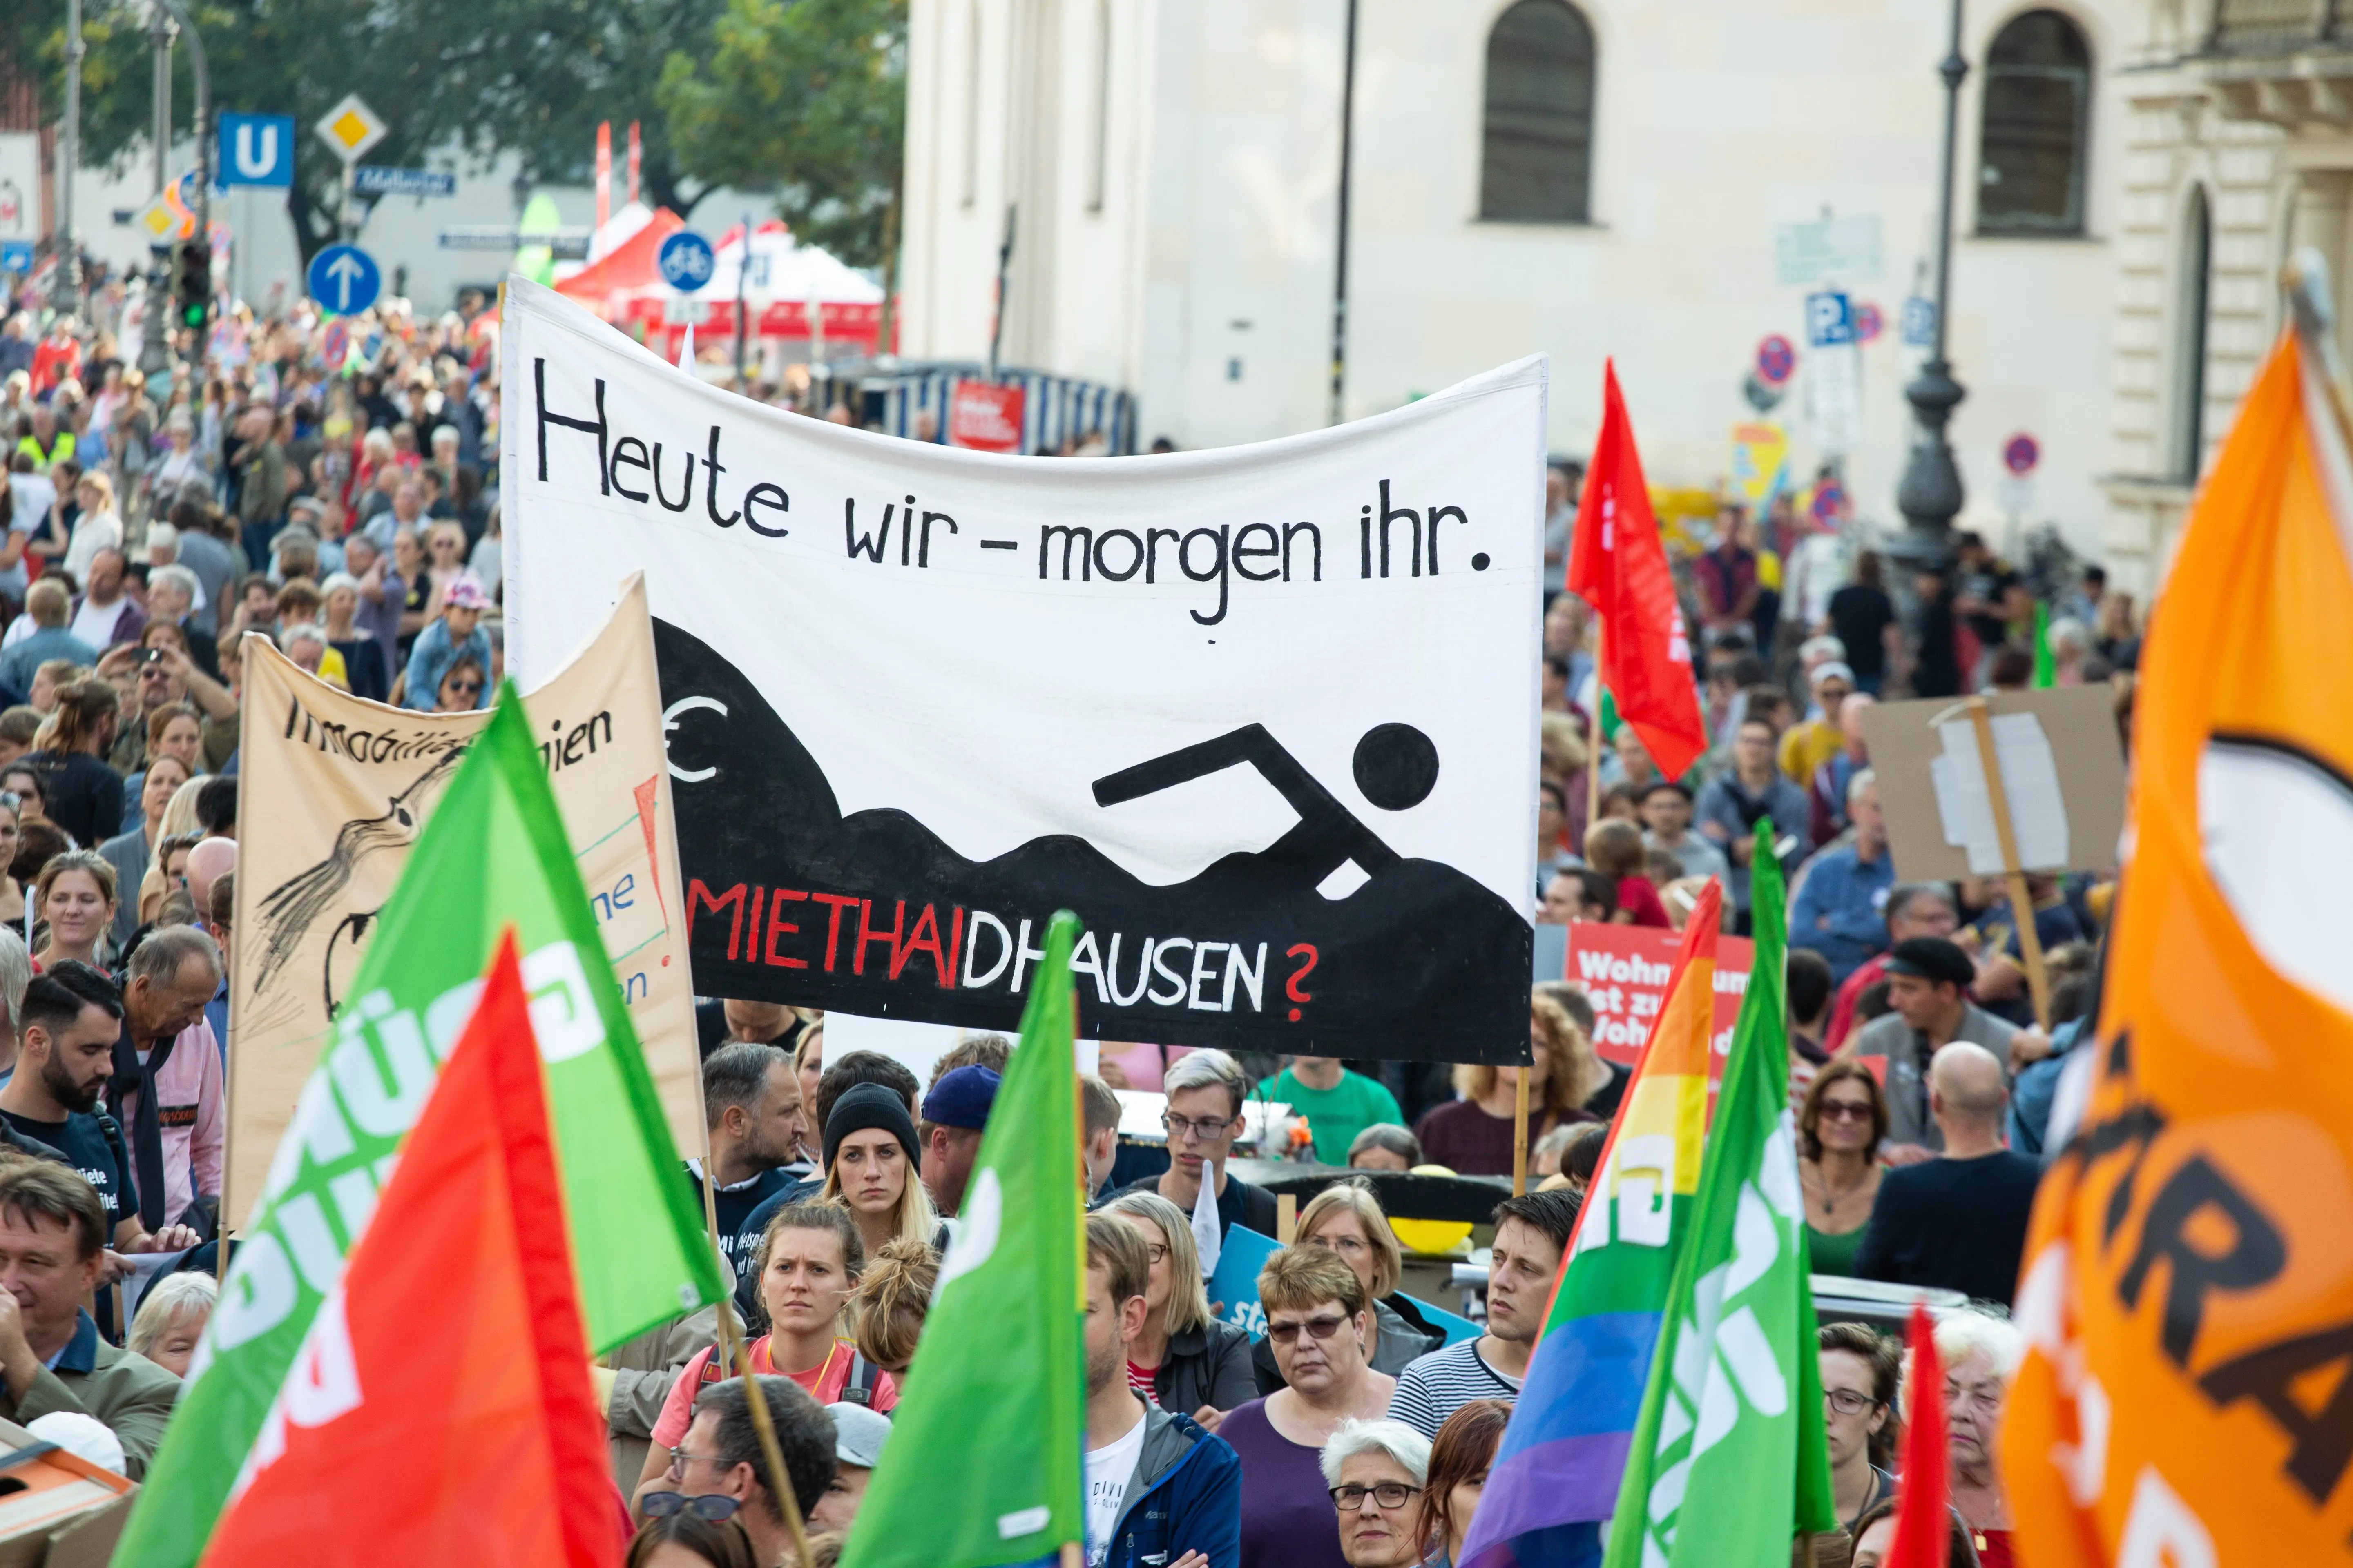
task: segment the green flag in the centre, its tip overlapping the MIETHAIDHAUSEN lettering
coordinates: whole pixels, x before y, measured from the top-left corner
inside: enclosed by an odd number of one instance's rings
[[[1087,1537],[1075,940],[1054,914],[842,1568],[1028,1563]]]

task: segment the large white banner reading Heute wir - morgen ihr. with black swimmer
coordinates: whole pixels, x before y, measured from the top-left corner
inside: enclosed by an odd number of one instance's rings
[[[1546,364],[1259,447],[1016,458],[675,371],[513,280],[508,661],[642,569],[694,985],[1520,1060]]]

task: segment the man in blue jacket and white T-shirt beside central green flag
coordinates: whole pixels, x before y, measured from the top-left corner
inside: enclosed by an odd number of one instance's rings
[[[1242,1462],[1127,1387],[1148,1281],[1144,1234],[1087,1215],[1087,1568],[1238,1568]]]

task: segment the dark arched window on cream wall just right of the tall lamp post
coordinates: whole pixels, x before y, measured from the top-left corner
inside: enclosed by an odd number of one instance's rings
[[[2059,12],[2026,12],[1986,49],[1977,230],[2080,235],[2092,49]]]

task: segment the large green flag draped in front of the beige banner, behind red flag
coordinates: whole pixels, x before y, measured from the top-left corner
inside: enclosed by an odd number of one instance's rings
[[[548,1119],[588,1342],[607,1349],[718,1300],[720,1267],[680,1180],[654,1081],[621,1006],[562,813],[513,686],[384,905],[304,1086],[115,1563],[186,1568],[287,1380],[400,1138],[473,1013],[513,924],[546,1063]],[[433,1248],[433,1237],[416,1237]],[[449,1267],[464,1267],[452,1258]]]

